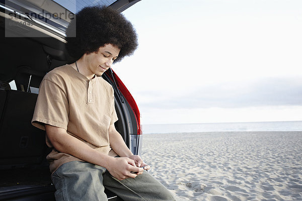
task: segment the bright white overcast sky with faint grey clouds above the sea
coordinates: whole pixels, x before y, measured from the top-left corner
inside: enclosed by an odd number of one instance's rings
[[[112,69],[142,124],[302,121],[302,1],[142,0]]]

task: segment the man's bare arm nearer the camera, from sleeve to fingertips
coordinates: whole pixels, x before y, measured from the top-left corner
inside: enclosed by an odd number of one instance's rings
[[[53,147],[62,153],[70,154],[81,160],[105,167],[112,176],[122,180],[125,178],[135,178],[141,168],[135,166],[134,160],[123,157],[114,158],[91,148],[81,140],[69,135],[65,129],[45,125],[46,135]]]

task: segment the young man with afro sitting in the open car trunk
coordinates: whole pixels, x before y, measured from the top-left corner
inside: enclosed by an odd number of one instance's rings
[[[72,31],[77,37],[68,37]],[[125,201],[175,200],[116,131],[113,88],[101,77],[136,49],[131,23],[112,9],[87,7],[66,33],[68,52],[78,59],[43,78],[32,119],[52,147],[56,200],[107,200],[104,186]]]

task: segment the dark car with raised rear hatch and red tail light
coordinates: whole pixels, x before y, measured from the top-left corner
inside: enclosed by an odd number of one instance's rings
[[[108,2],[106,6],[122,12],[138,1]],[[31,119],[44,75],[74,60],[66,53],[68,19],[59,18],[62,13],[73,15],[51,0],[0,3],[0,200],[54,200],[45,132],[33,127]],[[116,129],[139,155],[142,133],[137,105],[111,69],[103,78],[115,91]],[[118,199],[108,191],[107,195],[108,200]]]

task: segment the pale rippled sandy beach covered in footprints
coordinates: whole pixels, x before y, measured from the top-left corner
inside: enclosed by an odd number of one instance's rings
[[[302,200],[302,132],[144,134],[142,158],[177,200]]]

